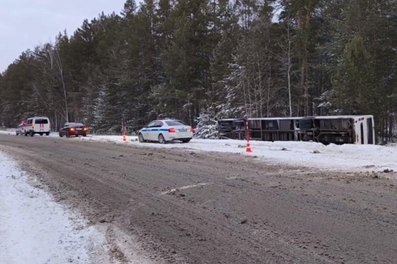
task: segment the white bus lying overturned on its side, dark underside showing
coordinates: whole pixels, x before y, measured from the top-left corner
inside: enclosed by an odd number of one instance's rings
[[[245,139],[245,120],[218,120],[220,137]],[[375,144],[372,115],[248,118],[248,127],[252,140]]]

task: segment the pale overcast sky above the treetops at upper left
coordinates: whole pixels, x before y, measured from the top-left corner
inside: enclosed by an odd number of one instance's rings
[[[120,13],[125,0],[0,0],[0,72],[27,49],[64,29],[71,35],[83,20]],[[138,1],[137,1],[138,2]]]

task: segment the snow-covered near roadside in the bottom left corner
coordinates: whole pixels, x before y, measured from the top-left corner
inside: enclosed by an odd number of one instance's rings
[[[29,181],[0,152],[0,264],[108,263],[103,230],[88,226],[39,182]]]

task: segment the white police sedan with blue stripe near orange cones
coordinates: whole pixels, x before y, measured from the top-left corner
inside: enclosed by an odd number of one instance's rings
[[[185,122],[173,118],[159,118],[151,121],[138,131],[140,143],[156,141],[165,144],[168,141],[188,143],[193,138],[193,128]]]

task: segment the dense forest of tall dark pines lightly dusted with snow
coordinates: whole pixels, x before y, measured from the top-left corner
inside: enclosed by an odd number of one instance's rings
[[[10,64],[0,124],[373,114],[390,139],[396,74],[397,0],[127,0]]]

